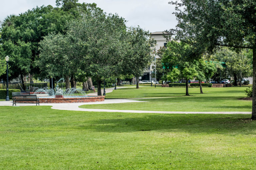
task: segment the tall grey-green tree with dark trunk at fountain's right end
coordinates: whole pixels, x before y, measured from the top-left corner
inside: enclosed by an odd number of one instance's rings
[[[97,80],[101,95],[101,82],[120,68],[124,58],[125,20],[117,14],[106,15],[100,8],[90,8],[82,16],[71,23],[69,34],[86,49],[77,51],[81,70]]]

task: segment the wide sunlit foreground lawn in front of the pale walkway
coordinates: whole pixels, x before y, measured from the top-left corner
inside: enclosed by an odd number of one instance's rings
[[[0,169],[256,169],[251,115],[0,109]]]

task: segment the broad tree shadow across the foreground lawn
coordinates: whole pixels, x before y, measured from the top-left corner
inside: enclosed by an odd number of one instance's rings
[[[120,114],[120,113],[119,113]],[[171,114],[127,115],[116,114],[115,119],[99,119],[90,122],[90,128],[98,132],[161,131],[216,134],[255,134],[256,121],[246,121],[251,115]],[[129,114],[130,115],[130,114]]]

